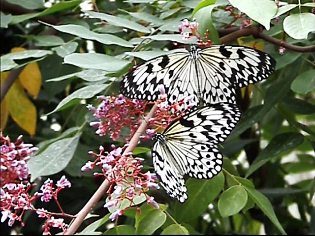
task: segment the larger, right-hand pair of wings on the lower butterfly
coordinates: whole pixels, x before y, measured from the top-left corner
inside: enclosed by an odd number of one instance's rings
[[[172,122],[163,135],[178,169],[195,178],[219,174],[223,157],[215,145],[227,139],[240,117],[237,105],[218,103]]]

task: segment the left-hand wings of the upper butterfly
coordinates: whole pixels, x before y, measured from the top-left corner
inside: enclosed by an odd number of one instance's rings
[[[184,99],[194,94],[195,89],[187,74],[188,60],[187,50],[148,60],[126,74],[121,82],[121,93],[131,99],[156,101],[163,86],[169,102]]]

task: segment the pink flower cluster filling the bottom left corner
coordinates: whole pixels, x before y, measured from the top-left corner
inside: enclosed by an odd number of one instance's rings
[[[40,188],[40,192],[34,195],[30,194],[34,184],[30,183],[30,173],[27,161],[31,155],[38,149],[32,147],[32,144],[24,144],[22,135],[18,137],[15,143],[12,143],[8,137],[4,137],[1,131],[1,223],[8,219],[8,225],[12,226],[15,221],[19,221],[24,226],[23,216],[27,211],[33,211],[38,214],[38,217],[47,218],[43,225],[44,233],[50,235],[50,228],[57,227],[63,231],[67,225],[63,223],[62,218],[54,216],[67,216],[64,214],[57,199],[59,191],[65,187],[71,187],[71,183],[63,176],[57,181],[57,188],[53,187],[53,181],[49,178]],[[42,202],[49,202],[52,198],[55,199],[62,213],[48,212],[44,208],[36,209],[33,202],[40,198]]]

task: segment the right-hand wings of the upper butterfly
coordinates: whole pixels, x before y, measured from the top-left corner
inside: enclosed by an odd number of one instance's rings
[[[245,46],[212,46],[199,52],[200,83],[206,104],[235,100],[234,88],[268,78],[276,61],[267,53]]]

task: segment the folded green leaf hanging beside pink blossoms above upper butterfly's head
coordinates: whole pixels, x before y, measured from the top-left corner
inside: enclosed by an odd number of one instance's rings
[[[201,35],[201,39],[206,41],[206,32],[207,30],[209,30],[209,38],[211,39],[211,41],[215,44],[220,44],[219,33],[212,24],[211,18],[211,13],[213,9],[217,6],[218,6],[217,4],[213,4],[202,7],[195,13],[194,17],[196,18],[196,21],[199,23],[198,32]]]

